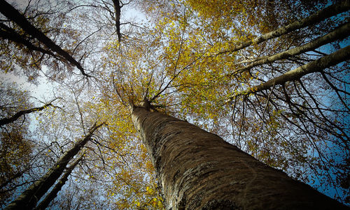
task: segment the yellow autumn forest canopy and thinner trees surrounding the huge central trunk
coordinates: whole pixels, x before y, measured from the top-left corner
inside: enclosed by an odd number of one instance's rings
[[[1,208],[165,209],[143,101],[349,205],[349,9],[0,0]]]

